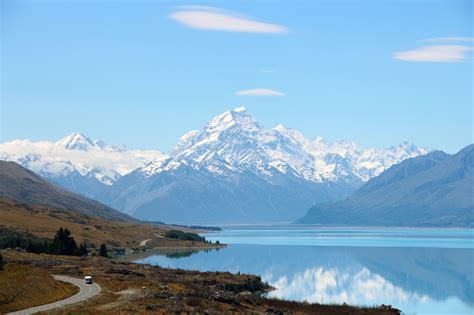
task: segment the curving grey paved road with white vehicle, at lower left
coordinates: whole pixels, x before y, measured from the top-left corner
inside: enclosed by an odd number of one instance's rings
[[[87,299],[90,299],[94,295],[98,294],[100,292],[100,287],[96,283],[93,284],[86,284],[84,279],[77,279],[77,278],[72,278],[72,277],[67,277],[67,276],[59,276],[59,275],[53,275],[54,279],[59,280],[59,281],[64,281],[64,282],[69,282],[74,285],[77,285],[80,289],[79,293],[76,295],[73,295],[71,297],[68,297],[67,299],[53,302],[50,304],[45,304],[45,305],[40,305],[40,306],[35,306],[32,308],[28,308],[26,310],[22,311],[17,311],[13,313],[8,313],[10,315],[25,315],[25,314],[33,314],[36,312],[44,312],[44,311],[49,311],[54,308],[58,307],[63,307],[65,305],[69,304],[74,304],[77,302],[81,302]]]

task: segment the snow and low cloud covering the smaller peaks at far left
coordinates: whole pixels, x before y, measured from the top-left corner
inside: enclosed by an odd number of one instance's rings
[[[18,164],[48,178],[70,174],[92,177],[112,185],[119,177],[160,161],[167,156],[159,151],[127,150],[101,140],[73,133],[57,142],[14,140],[0,144],[0,159]]]

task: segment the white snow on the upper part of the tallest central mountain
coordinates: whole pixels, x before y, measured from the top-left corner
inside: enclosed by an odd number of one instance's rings
[[[387,149],[362,149],[354,142],[308,139],[282,125],[266,129],[245,107],[239,107],[216,116],[202,130],[182,136],[170,161],[151,163],[142,174],[149,177],[185,163],[221,174],[250,171],[268,180],[275,172],[289,172],[319,183],[365,182],[393,164],[427,152],[406,142]]]

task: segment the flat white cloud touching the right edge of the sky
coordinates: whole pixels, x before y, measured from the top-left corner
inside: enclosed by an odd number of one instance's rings
[[[462,45],[421,46],[413,50],[396,52],[394,59],[414,62],[461,62],[468,60],[472,47]]]

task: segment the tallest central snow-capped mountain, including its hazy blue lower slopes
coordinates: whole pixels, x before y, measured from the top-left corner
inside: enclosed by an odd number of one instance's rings
[[[362,149],[263,128],[240,107],[182,136],[166,160],[120,178],[99,198],[142,219],[203,223],[289,222],[321,201],[429,150],[402,143]]]

